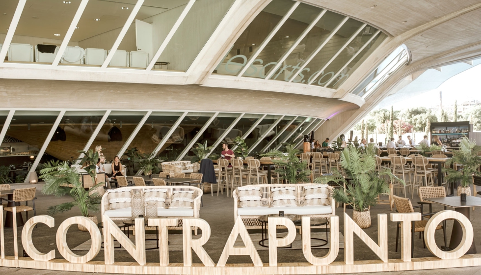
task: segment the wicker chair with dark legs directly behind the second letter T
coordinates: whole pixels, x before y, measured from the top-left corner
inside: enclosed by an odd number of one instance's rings
[[[393,195],[394,204],[396,205],[396,212],[398,213],[414,213],[414,208],[421,208],[421,205],[413,207],[411,200],[408,198],[398,197]],[[421,214],[421,217],[430,217],[434,213]],[[423,236],[423,246],[426,248],[426,242],[424,240],[424,232],[426,230],[426,224],[428,220],[416,220],[411,222],[411,257],[414,257],[414,233],[419,232]],[[401,223],[398,221],[398,226],[396,226],[396,252],[398,252],[398,242],[399,242],[399,228],[401,228]],[[443,221],[443,225],[438,224],[436,230],[443,229],[444,233],[444,246],[447,247],[446,240],[446,221]],[[407,236],[405,236],[407,237]]]

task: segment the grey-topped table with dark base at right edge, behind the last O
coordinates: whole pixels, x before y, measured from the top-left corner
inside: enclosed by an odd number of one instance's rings
[[[466,196],[466,201],[461,201],[460,197],[440,197],[440,198],[425,198],[424,200],[438,203],[444,206],[454,208],[454,211],[466,216],[469,220],[470,208],[474,206],[481,206],[481,198],[475,196]],[[456,248],[463,239],[463,229],[457,220],[454,220],[453,231],[451,232],[451,239],[449,241],[449,248]],[[476,245],[474,243],[469,248],[466,254],[476,254]]]

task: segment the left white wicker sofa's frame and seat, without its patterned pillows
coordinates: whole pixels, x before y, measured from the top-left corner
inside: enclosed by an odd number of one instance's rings
[[[202,190],[193,186],[130,186],[122,187],[114,190],[108,190],[102,197],[101,214],[102,220],[104,220],[104,215],[107,215],[112,220],[126,220],[132,217],[132,208],[115,208],[110,207],[109,193],[113,192],[130,192],[132,196],[135,192],[140,191],[142,194],[146,192],[156,192],[160,189],[166,190],[167,198],[165,199],[165,208],[157,208],[158,217],[163,218],[178,218],[177,226],[169,227],[169,229],[179,229],[182,230],[182,219],[183,218],[199,218],[200,217],[200,205]],[[192,209],[188,208],[170,208],[171,199],[174,192],[193,192],[193,206]],[[195,235],[197,235],[197,228],[195,228]]]

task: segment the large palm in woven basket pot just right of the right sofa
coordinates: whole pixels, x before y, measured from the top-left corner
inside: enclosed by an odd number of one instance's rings
[[[354,207],[353,220],[361,228],[369,228],[371,226],[369,207],[377,204],[379,194],[390,192],[389,183],[383,176],[387,175],[390,180],[395,179],[402,184],[404,182],[394,176],[388,168],[376,171],[376,159],[372,145],[360,152],[350,144],[341,153],[341,165],[346,176],[333,167],[332,176],[321,176],[314,182],[327,184],[333,181],[341,185],[341,189],[334,189],[334,199],[352,205]]]

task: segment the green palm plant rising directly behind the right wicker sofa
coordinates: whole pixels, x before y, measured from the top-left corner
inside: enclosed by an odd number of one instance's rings
[[[262,156],[271,157],[272,163],[278,168],[275,172],[279,174],[279,177],[283,180],[287,180],[288,183],[299,183],[309,181],[309,175],[311,170],[306,162],[302,162],[297,158],[299,150],[294,148],[294,145],[286,146],[285,153],[279,150],[270,150],[268,153]]]

